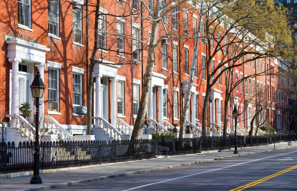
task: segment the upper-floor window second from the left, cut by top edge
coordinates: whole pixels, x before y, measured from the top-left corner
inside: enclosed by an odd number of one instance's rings
[[[48,1],[48,33],[59,36],[59,2]]]

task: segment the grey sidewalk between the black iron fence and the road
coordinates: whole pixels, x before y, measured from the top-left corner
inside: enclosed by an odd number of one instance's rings
[[[261,147],[239,148],[239,154],[233,154],[232,150],[222,152],[210,151],[199,154],[163,156],[157,159],[136,160],[120,163],[107,163],[89,165],[83,167],[70,167],[51,170],[40,170],[42,184],[30,184],[33,172],[21,172],[0,174],[0,190],[46,190],[58,187],[70,186],[97,180],[128,176],[156,170],[191,165],[201,162],[209,162],[217,159],[237,157],[247,154],[256,154],[273,150],[297,147],[297,142],[281,143]]]

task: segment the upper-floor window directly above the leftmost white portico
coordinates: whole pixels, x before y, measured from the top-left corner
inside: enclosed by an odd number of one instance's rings
[[[18,0],[18,24],[31,28],[31,0]]]

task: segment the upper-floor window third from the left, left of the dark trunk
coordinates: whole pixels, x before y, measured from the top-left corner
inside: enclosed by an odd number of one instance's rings
[[[82,44],[82,6],[73,4],[73,41]]]

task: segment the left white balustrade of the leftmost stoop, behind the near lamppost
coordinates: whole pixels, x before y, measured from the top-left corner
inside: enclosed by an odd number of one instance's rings
[[[19,120],[19,123],[16,124],[16,127],[12,127],[15,128],[16,131],[21,135],[21,137],[25,138],[25,140],[29,140],[29,141],[35,141],[35,127],[33,127],[29,121],[27,121],[24,117],[20,116],[20,115],[5,115],[5,117],[11,117],[11,118],[15,118],[17,121]],[[39,136],[41,136],[40,131],[38,132]]]

